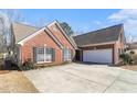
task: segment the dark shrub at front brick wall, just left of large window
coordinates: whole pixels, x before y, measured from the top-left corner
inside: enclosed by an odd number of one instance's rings
[[[22,66],[20,67],[20,70],[30,70],[30,69],[34,69],[34,66],[31,59],[28,59],[22,64]]]

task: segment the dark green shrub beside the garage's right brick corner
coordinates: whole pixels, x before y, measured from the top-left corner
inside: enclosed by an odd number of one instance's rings
[[[120,54],[119,57],[123,59],[124,65],[131,65],[134,61],[131,56],[127,53]]]

